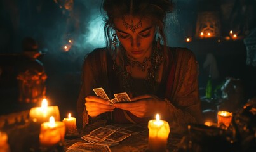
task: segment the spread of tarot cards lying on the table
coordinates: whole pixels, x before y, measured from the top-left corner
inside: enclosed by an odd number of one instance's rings
[[[106,151],[109,152],[109,147],[119,144],[131,134],[137,134],[146,131],[147,128],[140,125],[131,125],[121,128],[114,125],[99,127],[90,132],[90,134],[81,137],[85,142],[77,142],[68,148],[71,151]]]

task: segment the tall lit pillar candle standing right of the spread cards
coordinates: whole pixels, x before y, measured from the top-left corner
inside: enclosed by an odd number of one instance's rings
[[[149,120],[149,151],[166,151],[167,139],[170,133],[168,122],[160,120]]]

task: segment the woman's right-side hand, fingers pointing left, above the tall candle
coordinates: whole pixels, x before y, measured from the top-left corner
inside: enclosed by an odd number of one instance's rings
[[[163,113],[166,109],[166,101],[152,95],[138,96],[131,99],[129,103],[114,103],[116,108],[130,111],[133,115],[152,117],[156,113]]]

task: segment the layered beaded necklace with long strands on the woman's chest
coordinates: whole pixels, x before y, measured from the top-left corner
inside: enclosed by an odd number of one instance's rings
[[[144,79],[144,86],[147,88],[147,91],[156,91],[159,68],[164,61],[163,51],[154,46],[151,56],[145,58],[144,61],[140,63],[139,61],[129,60],[125,54],[125,49],[121,46],[121,56],[123,57],[123,60],[120,61],[119,65],[116,65],[116,62],[114,61],[114,67],[116,67],[119,78],[121,78],[121,87],[123,87],[126,92],[131,93],[131,91],[134,90],[134,80],[133,77],[131,77],[132,72],[130,67],[137,66],[140,70],[145,71],[146,67],[149,66],[147,68],[147,75]],[[113,58],[113,60],[115,60],[115,58]],[[136,92],[133,92],[133,94],[135,93]]]

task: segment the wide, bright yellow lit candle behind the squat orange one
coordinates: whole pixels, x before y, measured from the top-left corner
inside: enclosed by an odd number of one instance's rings
[[[48,106],[47,99],[43,99],[41,107],[31,108],[29,111],[29,118],[32,122],[42,124],[48,122],[50,116],[54,116],[55,120],[60,120],[60,111],[58,106]]]

